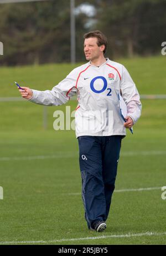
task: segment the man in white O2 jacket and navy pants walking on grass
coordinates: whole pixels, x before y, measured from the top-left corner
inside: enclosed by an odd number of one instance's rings
[[[77,95],[76,137],[79,141],[82,199],[88,228],[106,228],[115,189],[121,140],[141,116],[139,94],[127,69],[105,58],[107,39],[100,31],[84,35],[86,64],[75,68],[51,91],[19,89],[22,97],[43,105],[58,106]],[[127,104],[124,123],[118,94]]]

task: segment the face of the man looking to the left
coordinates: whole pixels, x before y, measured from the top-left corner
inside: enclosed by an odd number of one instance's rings
[[[87,61],[94,61],[94,59],[99,58],[103,55],[103,49],[105,46],[97,46],[97,38],[90,37],[86,38],[84,41],[84,53]]]

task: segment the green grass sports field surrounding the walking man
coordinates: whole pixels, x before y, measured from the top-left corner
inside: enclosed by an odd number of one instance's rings
[[[166,94],[165,57],[118,60],[140,94]],[[74,66],[49,64],[1,68],[1,97],[18,97],[13,81],[49,89]],[[81,199],[78,145],[74,130],[55,131],[48,107],[0,102],[0,244],[166,244],[166,101],[142,100],[142,117],[123,139],[116,190],[107,229],[89,231]],[[76,102],[68,106],[74,110]],[[142,188],[142,189],[141,189]]]

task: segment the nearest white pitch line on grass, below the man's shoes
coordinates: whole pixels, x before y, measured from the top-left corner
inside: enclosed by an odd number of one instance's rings
[[[73,242],[73,241],[80,241],[80,240],[96,240],[96,239],[105,239],[105,238],[131,238],[131,237],[146,237],[146,236],[159,236],[159,235],[166,235],[166,232],[158,233],[158,232],[146,232],[146,233],[136,233],[136,234],[114,234],[114,235],[101,235],[96,237],[80,237],[80,238],[66,238],[66,239],[57,239],[57,240],[39,240],[39,241],[5,241],[0,242],[0,244],[39,244],[39,243],[61,243],[61,242]]]

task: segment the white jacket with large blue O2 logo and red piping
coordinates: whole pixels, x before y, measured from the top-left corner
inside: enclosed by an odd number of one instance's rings
[[[126,135],[118,94],[134,123],[141,116],[142,105],[131,76],[122,64],[108,58],[100,67],[88,62],[73,69],[51,91],[32,91],[29,101],[46,106],[59,106],[76,94],[76,137]]]

